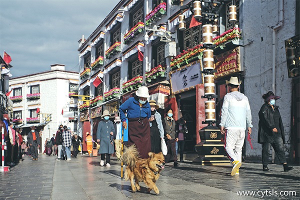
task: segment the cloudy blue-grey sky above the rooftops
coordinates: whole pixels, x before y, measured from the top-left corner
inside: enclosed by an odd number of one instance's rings
[[[78,40],[87,38],[119,0],[0,0],[0,54],[13,77],[50,70],[78,71]]]

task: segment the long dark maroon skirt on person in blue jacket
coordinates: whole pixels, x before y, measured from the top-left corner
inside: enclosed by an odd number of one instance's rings
[[[147,158],[151,151],[150,126],[148,118],[128,121],[128,145],[135,144],[141,158]]]

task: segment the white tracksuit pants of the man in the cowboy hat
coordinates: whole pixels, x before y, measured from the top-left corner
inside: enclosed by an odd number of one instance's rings
[[[241,162],[241,148],[245,139],[244,129],[226,129],[224,135],[224,148],[230,161]]]

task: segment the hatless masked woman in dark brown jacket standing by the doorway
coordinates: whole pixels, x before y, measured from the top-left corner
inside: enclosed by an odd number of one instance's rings
[[[166,147],[167,154],[164,156],[165,162],[174,162],[174,166],[178,166],[177,154],[175,148],[175,142],[178,141],[178,135],[176,131],[176,122],[174,120],[173,110],[168,109],[166,112],[166,117],[162,120],[162,126],[164,129],[164,135],[166,136]]]

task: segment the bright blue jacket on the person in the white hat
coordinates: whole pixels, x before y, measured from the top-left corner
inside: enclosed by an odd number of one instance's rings
[[[127,118],[144,118],[148,119],[151,117],[150,104],[147,101],[142,107],[139,106],[137,97],[128,98],[121,106],[119,107],[121,121],[125,121],[125,112],[127,112]]]

